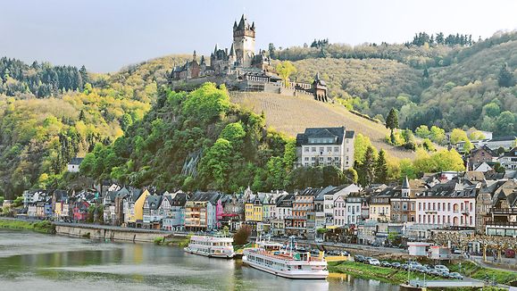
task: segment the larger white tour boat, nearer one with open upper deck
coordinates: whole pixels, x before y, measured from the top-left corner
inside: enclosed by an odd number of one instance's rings
[[[310,253],[293,251],[294,238],[288,249],[281,244],[257,241],[256,247],[246,248],[242,262],[257,270],[288,279],[327,279],[329,270],[322,258],[313,258]]]

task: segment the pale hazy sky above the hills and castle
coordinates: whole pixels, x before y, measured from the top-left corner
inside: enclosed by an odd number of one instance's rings
[[[165,54],[229,47],[246,12],[256,47],[402,43],[415,32],[490,37],[517,29],[513,0],[0,0],[0,56],[117,71]]]

